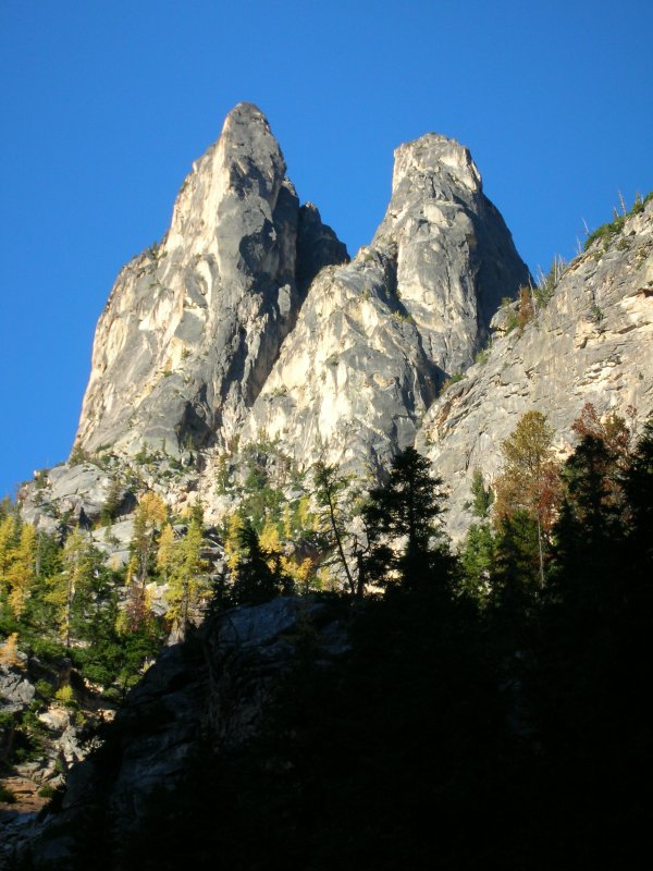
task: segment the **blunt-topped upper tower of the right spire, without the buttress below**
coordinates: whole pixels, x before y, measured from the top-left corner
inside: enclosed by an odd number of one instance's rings
[[[469,150],[434,133],[396,149],[372,246],[395,253],[402,303],[448,373],[471,364],[501,299],[529,281]]]

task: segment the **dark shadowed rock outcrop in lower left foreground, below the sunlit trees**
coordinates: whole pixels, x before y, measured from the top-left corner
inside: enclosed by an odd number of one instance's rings
[[[71,772],[61,812],[30,833],[35,867],[70,868],[85,821],[97,824],[97,814],[110,821],[107,843],[119,851],[157,793],[174,790],[202,747],[220,755],[247,745],[307,633],[324,665],[348,650],[336,612],[296,598],[234,609],[164,650],[127,697],[106,745]]]

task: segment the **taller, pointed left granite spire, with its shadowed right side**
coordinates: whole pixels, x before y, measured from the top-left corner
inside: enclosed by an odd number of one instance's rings
[[[345,246],[299,208],[264,115],[239,103],[194,164],[172,223],[121,271],[95,338],[77,443],[176,453],[227,440],[310,280]]]

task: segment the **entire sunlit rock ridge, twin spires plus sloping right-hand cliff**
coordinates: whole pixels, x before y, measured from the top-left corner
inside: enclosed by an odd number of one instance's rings
[[[517,408],[534,404],[550,416],[560,455],[570,450],[570,425],[584,402],[601,413],[625,414],[628,405],[641,418],[650,413],[645,360],[639,375],[617,366],[627,389],[601,392],[608,383],[603,375],[615,368],[612,352],[604,353],[613,314],[621,298],[640,298],[632,282],[646,293],[651,286],[650,213],[650,200],[640,201],[611,225],[614,232],[597,231],[589,252],[562,270],[558,287],[549,286],[547,304],[537,303],[540,291],[485,198],[469,150],[430,133],[395,149],[385,217],[349,260],[317,207],[299,206],[262,112],[239,103],[223,137],[194,163],[160,246],[119,275],[98,324],[74,454],[116,455],[127,468],[137,456],[160,455],[148,486],[180,510],[201,500],[208,517],[220,522],[234,496],[217,492],[217,476],[225,464],[237,468],[239,451],[261,439],[278,443],[304,470],[323,459],[377,479],[398,450],[417,444],[449,488],[448,525],[459,536],[470,520],[472,471],[496,476]],[[582,293],[576,287],[565,295],[580,273]],[[502,307],[529,285],[521,303]],[[607,293],[612,285],[620,291]],[[564,326],[554,317],[563,296],[570,308]],[[516,306],[525,300],[530,323],[506,338],[506,319],[516,323]],[[634,356],[638,348],[645,356],[650,317],[650,298],[644,294],[640,303],[637,322],[618,340]],[[505,372],[519,369],[513,364],[525,343],[535,357],[557,347],[551,330],[578,331],[589,342],[594,387],[590,378],[577,395],[557,389],[552,404],[546,384],[564,383],[552,359],[539,375],[522,372],[530,387],[522,384],[519,402],[510,398],[510,389],[501,388]],[[574,342],[559,354],[589,359]],[[448,380],[457,383],[444,390]],[[473,422],[456,432],[460,414],[444,409],[464,408],[463,394],[473,395]],[[485,419],[497,421],[495,432]],[[183,474],[173,468],[180,463]],[[63,499],[93,522],[110,480],[93,465],[82,477],[58,473],[39,499]],[[128,488],[124,498],[125,506],[133,503]],[[26,516],[52,525],[33,489],[22,499]]]

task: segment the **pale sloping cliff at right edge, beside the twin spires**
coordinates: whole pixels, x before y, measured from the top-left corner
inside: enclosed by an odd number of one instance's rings
[[[574,260],[523,330],[496,323],[486,358],[434,403],[418,438],[451,488],[455,535],[470,519],[473,469],[495,477],[501,443],[526,412],[547,416],[565,455],[586,403],[627,418],[632,406],[636,428],[653,410],[653,201]]]

